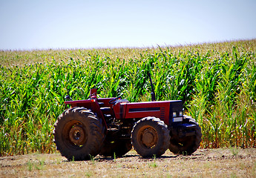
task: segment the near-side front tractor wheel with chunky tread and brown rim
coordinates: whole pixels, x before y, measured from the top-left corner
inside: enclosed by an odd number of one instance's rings
[[[131,131],[134,150],[142,157],[161,156],[168,149],[169,140],[167,125],[156,117],[140,119]]]

